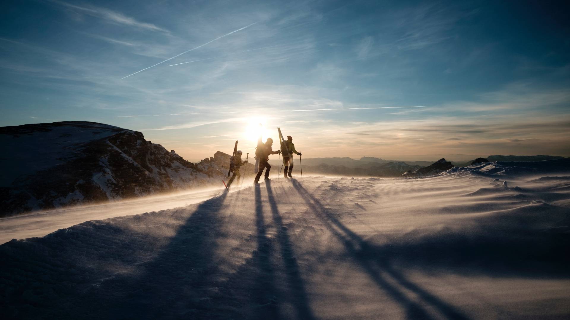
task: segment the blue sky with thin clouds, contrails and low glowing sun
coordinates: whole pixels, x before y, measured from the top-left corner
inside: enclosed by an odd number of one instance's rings
[[[253,155],[259,123],[306,158],[568,157],[568,9],[9,0],[0,126],[101,122],[189,161],[231,153],[235,140]]]

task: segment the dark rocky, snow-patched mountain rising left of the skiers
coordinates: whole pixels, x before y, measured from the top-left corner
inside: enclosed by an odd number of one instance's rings
[[[213,182],[140,132],[86,121],[0,128],[0,216]]]

